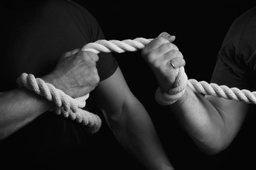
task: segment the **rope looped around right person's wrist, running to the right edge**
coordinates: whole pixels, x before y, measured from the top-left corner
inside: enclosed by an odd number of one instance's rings
[[[206,81],[188,79],[183,67],[179,68],[178,76],[174,82],[174,89],[170,89],[169,93],[162,93],[160,89],[156,90],[156,102],[161,106],[168,106],[175,103],[185,92],[186,85],[198,94],[256,104],[256,91],[251,92],[246,89],[240,90],[236,87],[229,88],[225,85],[218,86],[218,84],[214,83],[208,84]]]

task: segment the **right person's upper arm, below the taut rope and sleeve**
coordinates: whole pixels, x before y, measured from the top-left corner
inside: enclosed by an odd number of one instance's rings
[[[248,104],[242,101],[228,100],[225,98],[218,98],[215,96],[206,96],[208,101],[213,104],[215,109],[220,114],[224,123],[223,136],[228,145],[233,141],[235,135],[240,130],[242,123],[248,111]]]

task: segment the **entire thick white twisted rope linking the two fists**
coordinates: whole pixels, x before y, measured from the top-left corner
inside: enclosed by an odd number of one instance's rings
[[[97,40],[88,43],[82,47],[82,51],[100,52],[134,52],[142,50],[153,39],[136,38],[134,40]],[[256,103],[256,92],[250,92],[245,89],[228,88],[228,86],[218,86],[217,84],[208,84],[206,81],[196,81],[186,76],[183,67],[177,69],[178,76],[174,83],[174,88],[169,93],[163,93],[161,89],[156,89],[156,102],[162,106],[175,103],[180,98],[186,86],[189,86],[195,93],[212,95],[221,98],[227,98],[236,101],[245,101],[246,103]],[[54,111],[58,115],[61,113],[65,118],[76,120],[78,123],[87,125],[91,132],[97,132],[101,126],[101,119],[98,115],[82,110],[85,107],[85,101],[89,94],[81,98],[72,98],[63,91],[56,89],[52,84],[48,84],[43,79],[33,77],[33,74],[21,74],[17,79],[19,86],[36,92],[36,94],[44,96],[48,101],[55,103]]]

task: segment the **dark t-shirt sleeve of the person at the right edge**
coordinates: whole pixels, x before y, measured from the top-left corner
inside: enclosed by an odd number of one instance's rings
[[[238,89],[251,89],[255,42],[250,42],[255,26],[251,24],[252,10],[238,17],[230,26],[223,44],[218,52],[211,82]],[[249,40],[249,41],[248,41]],[[252,45],[253,44],[253,45]],[[255,62],[253,62],[255,64]]]

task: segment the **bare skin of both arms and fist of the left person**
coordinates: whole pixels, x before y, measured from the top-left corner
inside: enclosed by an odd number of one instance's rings
[[[97,105],[114,136],[127,152],[146,169],[174,169],[161,146],[151,118],[130,91],[121,70],[117,68],[111,77],[99,83],[95,67],[97,60],[97,55],[92,52],[67,52],[55,69],[42,79],[74,98],[95,90]],[[52,104],[45,98],[26,89],[2,92],[1,140],[31,123],[51,107]]]

